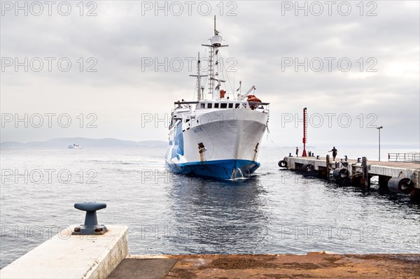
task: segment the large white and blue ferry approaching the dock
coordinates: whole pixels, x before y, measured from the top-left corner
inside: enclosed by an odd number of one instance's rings
[[[251,176],[258,169],[258,152],[268,128],[269,103],[255,96],[255,86],[246,94],[227,94],[219,75],[222,37],[216,30],[210,38],[209,67],[200,72],[197,62],[197,100],[177,101],[169,124],[167,168],[220,179]],[[202,78],[207,78],[209,93],[204,93]],[[239,87],[240,88],[240,87]]]

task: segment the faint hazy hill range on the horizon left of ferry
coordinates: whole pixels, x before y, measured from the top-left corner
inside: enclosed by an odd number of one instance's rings
[[[0,148],[67,148],[69,145],[80,145],[83,148],[165,148],[165,141],[122,141],[116,138],[54,138],[49,141],[31,141],[18,143],[5,141]]]

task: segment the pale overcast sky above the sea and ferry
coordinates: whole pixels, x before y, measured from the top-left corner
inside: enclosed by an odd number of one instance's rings
[[[216,15],[227,91],[255,85],[276,145],[304,107],[309,145],[419,145],[419,1],[296,3],[1,1],[1,141],[167,141]]]

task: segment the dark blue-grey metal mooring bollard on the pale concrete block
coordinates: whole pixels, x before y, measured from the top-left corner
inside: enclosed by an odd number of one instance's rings
[[[105,234],[108,230],[104,224],[98,224],[97,219],[97,210],[106,208],[106,203],[95,203],[95,202],[85,202],[85,203],[74,203],[74,208],[78,210],[86,211],[85,224],[80,224],[80,226],[75,227],[73,233],[76,235],[87,235],[87,234]]]

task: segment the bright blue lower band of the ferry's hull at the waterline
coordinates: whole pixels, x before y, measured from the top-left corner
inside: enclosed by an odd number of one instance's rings
[[[187,164],[173,164],[166,162],[167,167],[174,173],[193,174],[218,179],[232,179],[250,176],[260,167],[260,163],[241,160],[226,159],[207,162],[191,162]]]

